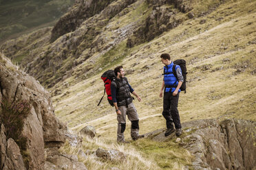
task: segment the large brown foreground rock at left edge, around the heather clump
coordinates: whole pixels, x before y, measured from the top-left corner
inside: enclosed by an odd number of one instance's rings
[[[54,116],[50,94],[33,77],[20,71],[10,60],[0,56],[0,101],[8,99],[25,100],[31,104],[31,110],[25,119],[23,136],[27,140],[28,169],[44,169],[44,148],[61,147],[65,142],[67,127]],[[19,149],[12,139],[1,138],[1,145],[7,147],[7,154],[1,152],[1,165],[9,165],[9,160],[19,161],[23,166]],[[1,147],[4,148],[4,147]],[[13,152],[13,151],[17,152]],[[12,156],[13,157],[12,157]],[[10,158],[10,159],[8,159]],[[12,162],[15,165],[15,162]],[[19,169],[15,168],[14,169]]]

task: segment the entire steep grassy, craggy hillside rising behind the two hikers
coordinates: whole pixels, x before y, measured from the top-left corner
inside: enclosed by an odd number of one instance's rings
[[[92,9],[91,15],[88,9]],[[78,132],[85,125],[94,125],[105,143],[113,143],[114,108],[107,97],[97,107],[104,90],[100,75],[124,66],[131,86],[142,97],[141,102],[134,101],[140,133],[164,128],[159,97],[161,53],[187,62],[187,90],[179,103],[182,122],[210,118],[255,121],[255,12],[256,2],[246,0],[76,1],[54,27],[9,40],[1,50],[51,90],[55,113],[70,129]],[[129,136],[129,123],[125,136]],[[158,143],[142,140],[134,145],[130,147]],[[145,150],[140,153],[147,157]],[[178,165],[174,165],[158,160],[169,152],[155,150],[147,157],[153,167],[145,169],[189,165],[189,155],[182,153],[168,157],[177,158]]]

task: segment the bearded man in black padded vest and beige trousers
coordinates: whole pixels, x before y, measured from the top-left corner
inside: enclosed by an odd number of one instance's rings
[[[138,101],[141,101],[139,95],[137,95],[133,88],[131,88],[127,77],[125,77],[125,71],[122,66],[117,66],[114,69],[116,79],[111,82],[111,97],[116,108],[117,120],[118,120],[118,132],[117,141],[119,143],[127,143],[125,141],[125,128],[126,128],[126,115],[129,121],[131,121],[131,138],[136,141],[138,138],[143,138],[144,135],[139,135],[139,117],[137,110],[132,103],[133,98],[131,94],[135,95]]]

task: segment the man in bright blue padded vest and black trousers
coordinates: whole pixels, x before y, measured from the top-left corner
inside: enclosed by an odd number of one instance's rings
[[[169,136],[175,132],[176,136],[182,134],[182,126],[180,123],[180,115],[178,112],[178,100],[180,95],[180,86],[184,81],[182,76],[182,70],[180,66],[175,66],[175,72],[177,77],[173,74],[173,62],[168,53],[162,53],[160,56],[162,64],[164,64],[164,80],[162,81],[162,87],[160,90],[160,97],[162,97],[162,91],[164,90],[164,110],[162,115],[166,119],[167,131],[165,136]],[[173,127],[175,125],[175,129]]]

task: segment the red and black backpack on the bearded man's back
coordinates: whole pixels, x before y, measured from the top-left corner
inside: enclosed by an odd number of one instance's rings
[[[104,82],[105,90],[104,90],[104,95],[107,92],[107,101],[109,101],[109,104],[113,107],[114,103],[111,97],[111,81],[116,77],[114,70],[108,70],[101,75],[101,79]],[[103,97],[104,97],[103,95]],[[103,97],[101,97],[100,102],[103,100]],[[100,105],[100,102],[98,103],[98,106]]]

